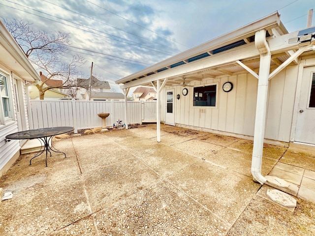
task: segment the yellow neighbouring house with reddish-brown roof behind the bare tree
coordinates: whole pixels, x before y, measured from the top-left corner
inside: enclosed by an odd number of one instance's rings
[[[43,81],[45,81],[47,79],[47,77],[44,76],[41,71],[39,72],[39,76],[41,79],[39,84],[43,83]],[[50,80],[46,81],[43,88],[47,88],[48,86],[62,86],[62,85],[63,85],[62,80],[50,79]],[[30,94],[31,99],[35,99],[35,100],[39,99],[39,90],[36,88],[36,86],[33,85],[29,88],[29,94]],[[55,89],[48,89],[45,92],[44,100],[59,100],[61,98],[66,98],[66,97],[70,97],[70,96],[66,93],[63,93],[63,89],[55,88]]]

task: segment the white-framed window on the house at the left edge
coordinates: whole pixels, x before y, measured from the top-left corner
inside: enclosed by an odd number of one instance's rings
[[[9,97],[8,77],[2,73],[0,73],[0,99],[1,99],[0,124],[4,124],[4,120],[12,118],[12,110]]]

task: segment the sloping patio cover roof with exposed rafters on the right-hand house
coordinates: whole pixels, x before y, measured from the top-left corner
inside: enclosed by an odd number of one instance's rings
[[[166,85],[175,86],[181,85],[184,78],[189,83],[191,81],[201,81],[204,78],[203,76],[217,78],[247,72],[244,67],[237,63],[237,60],[242,60],[243,63],[243,60],[246,60],[246,66],[257,70],[259,68],[259,53],[255,48],[254,40],[255,33],[262,29],[266,30],[267,38],[274,38],[288,33],[280,21],[280,15],[275,12],[240,29],[228,32],[117,80],[116,84],[123,84],[121,88],[139,85],[151,86],[152,82],[167,79]],[[247,54],[236,52],[237,50],[239,52],[245,50]],[[233,52],[233,57],[231,57],[231,54],[227,55],[230,52]],[[289,56],[289,52],[273,55],[271,68],[283,63]],[[223,57],[224,59],[222,59]]]

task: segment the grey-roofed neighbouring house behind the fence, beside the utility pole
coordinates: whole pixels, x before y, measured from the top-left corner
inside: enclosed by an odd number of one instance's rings
[[[92,76],[91,82],[90,79],[77,79],[77,85],[79,90],[77,91],[77,97],[80,100],[90,100],[89,94],[91,88],[92,92],[110,92],[111,88],[107,81],[101,81]],[[91,99],[93,100],[93,99]]]

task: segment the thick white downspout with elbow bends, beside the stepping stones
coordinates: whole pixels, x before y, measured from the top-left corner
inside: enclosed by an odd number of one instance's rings
[[[254,143],[252,148],[252,177],[263,184],[267,181],[261,175],[262,150],[265,136],[265,122],[267,110],[268,79],[270,71],[271,53],[266,41],[266,30],[255,33],[255,46],[260,54],[259,79],[256,103],[256,116],[254,128]]]

